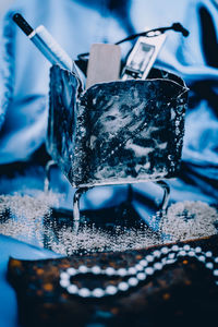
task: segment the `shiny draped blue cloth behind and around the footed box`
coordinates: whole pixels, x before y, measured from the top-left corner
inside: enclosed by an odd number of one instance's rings
[[[180,22],[190,31],[184,38],[168,32],[157,68],[184,78],[190,87],[190,106],[185,118],[185,136],[181,177],[170,182],[171,198],[202,199],[217,204],[218,197],[218,4],[213,0],[17,0],[7,12],[0,29],[0,165],[27,162],[45,143],[48,116],[48,83],[50,63],[12,22],[20,12],[33,27],[43,24],[75,59],[89,51],[93,43],[116,43],[132,33]],[[122,46],[123,58],[131,44]],[[1,166],[0,166],[1,167]],[[22,183],[41,187],[40,173],[26,170],[10,183],[0,178],[0,192],[12,193]],[[61,178],[59,179],[59,181]],[[61,180],[61,190],[69,194],[65,207],[71,206],[72,190]],[[133,185],[137,194],[133,205],[144,215],[143,201],[159,194],[152,183]],[[82,208],[98,208],[122,202],[126,186],[98,187],[84,198]],[[19,247],[17,247],[19,246]],[[21,252],[19,252],[20,250]],[[9,255],[29,258],[53,255],[0,237],[1,270],[0,326],[14,327],[15,295],[5,281]],[[11,303],[9,305],[9,303]]]

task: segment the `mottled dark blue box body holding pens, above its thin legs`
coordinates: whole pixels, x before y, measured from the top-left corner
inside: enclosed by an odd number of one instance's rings
[[[73,186],[177,175],[187,89],[172,74],[152,74],[78,94],[74,75],[51,69],[48,150]]]

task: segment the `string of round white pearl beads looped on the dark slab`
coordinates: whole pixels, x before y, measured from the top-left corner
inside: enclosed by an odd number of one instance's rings
[[[108,267],[101,269],[99,266],[88,268],[85,265],[81,265],[77,269],[71,267],[60,274],[60,286],[66,289],[70,294],[81,298],[97,299],[116,295],[118,292],[125,292],[129,289],[136,287],[141,281],[145,281],[147,277],[154,275],[155,271],[161,270],[166,265],[175,263],[180,257],[195,257],[197,261],[204,263],[207,269],[213,270],[215,283],[218,286],[218,257],[214,257],[210,251],[203,252],[202,247],[197,246],[193,249],[187,244],[183,246],[164,246],[160,250],[156,250],[152,254],[146,255],[135,266],[130,268],[114,269]],[[126,277],[126,281],[121,281],[117,286],[109,284],[106,289],[80,289],[76,284],[71,282],[71,278],[81,274]]]

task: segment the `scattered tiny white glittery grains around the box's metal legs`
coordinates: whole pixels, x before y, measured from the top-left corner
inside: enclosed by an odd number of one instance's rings
[[[202,202],[171,205],[155,232],[153,225],[159,218],[150,217],[148,228],[131,206],[82,215],[77,233],[72,213],[60,214],[52,207],[58,207],[52,193],[1,195],[0,233],[63,255],[126,251],[217,234],[218,213]]]

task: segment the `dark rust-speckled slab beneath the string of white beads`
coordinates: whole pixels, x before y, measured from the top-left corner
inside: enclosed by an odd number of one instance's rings
[[[217,237],[187,242],[218,254]],[[158,249],[156,246],[155,249]],[[82,264],[114,268],[135,265],[154,249],[95,253],[45,261],[10,259],[9,280],[19,300],[23,326],[213,326],[217,319],[218,290],[211,271],[186,257],[124,294],[83,300],[59,286],[60,271]],[[80,288],[117,284],[121,277],[76,277]]]

